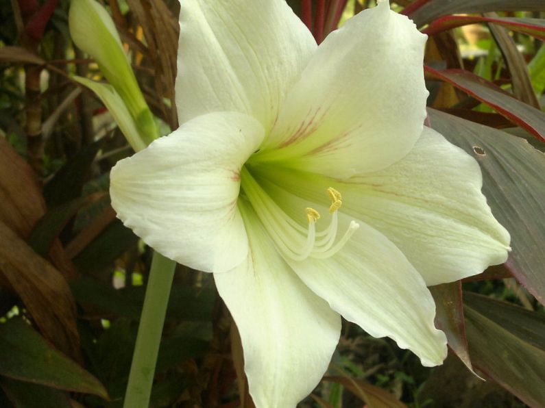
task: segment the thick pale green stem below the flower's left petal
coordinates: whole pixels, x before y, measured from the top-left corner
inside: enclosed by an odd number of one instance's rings
[[[147,408],[176,263],[154,252],[136,335],[124,408]]]

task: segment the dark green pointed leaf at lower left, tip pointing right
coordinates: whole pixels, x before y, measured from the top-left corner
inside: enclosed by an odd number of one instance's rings
[[[19,318],[0,324],[0,361],[5,377],[108,398],[100,381]]]

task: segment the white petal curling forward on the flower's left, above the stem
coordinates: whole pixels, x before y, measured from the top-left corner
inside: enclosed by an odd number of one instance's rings
[[[190,120],[112,168],[112,207],[163,255],[206,272],[230,270],[247,255],[239,172],[262,139],[263,127],[243,114]]]

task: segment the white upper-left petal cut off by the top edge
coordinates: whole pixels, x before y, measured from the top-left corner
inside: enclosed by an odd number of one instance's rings
[[[176,105],[184,123],[234,111],[268,131],[316,42],[281,0],[182,0]]]

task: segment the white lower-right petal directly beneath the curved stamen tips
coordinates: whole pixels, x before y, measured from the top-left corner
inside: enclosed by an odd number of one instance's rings
[[[299,199],[266,181],[262,186],[287,214],[313,207],[322,214],[318,224],[327,224],[327,207]],[[339,214],[341,234],[352,220]],[[286,262],[346,320],[374,337],[391,337],[400,348],[409,348],[420,357],[424,366],[441,364],[447,353],[446,337],[435,329],[435,303],[424,279],[383,234],[355,221],[359,229],[332,257],[308,257],[302,262],[286,257]]]

